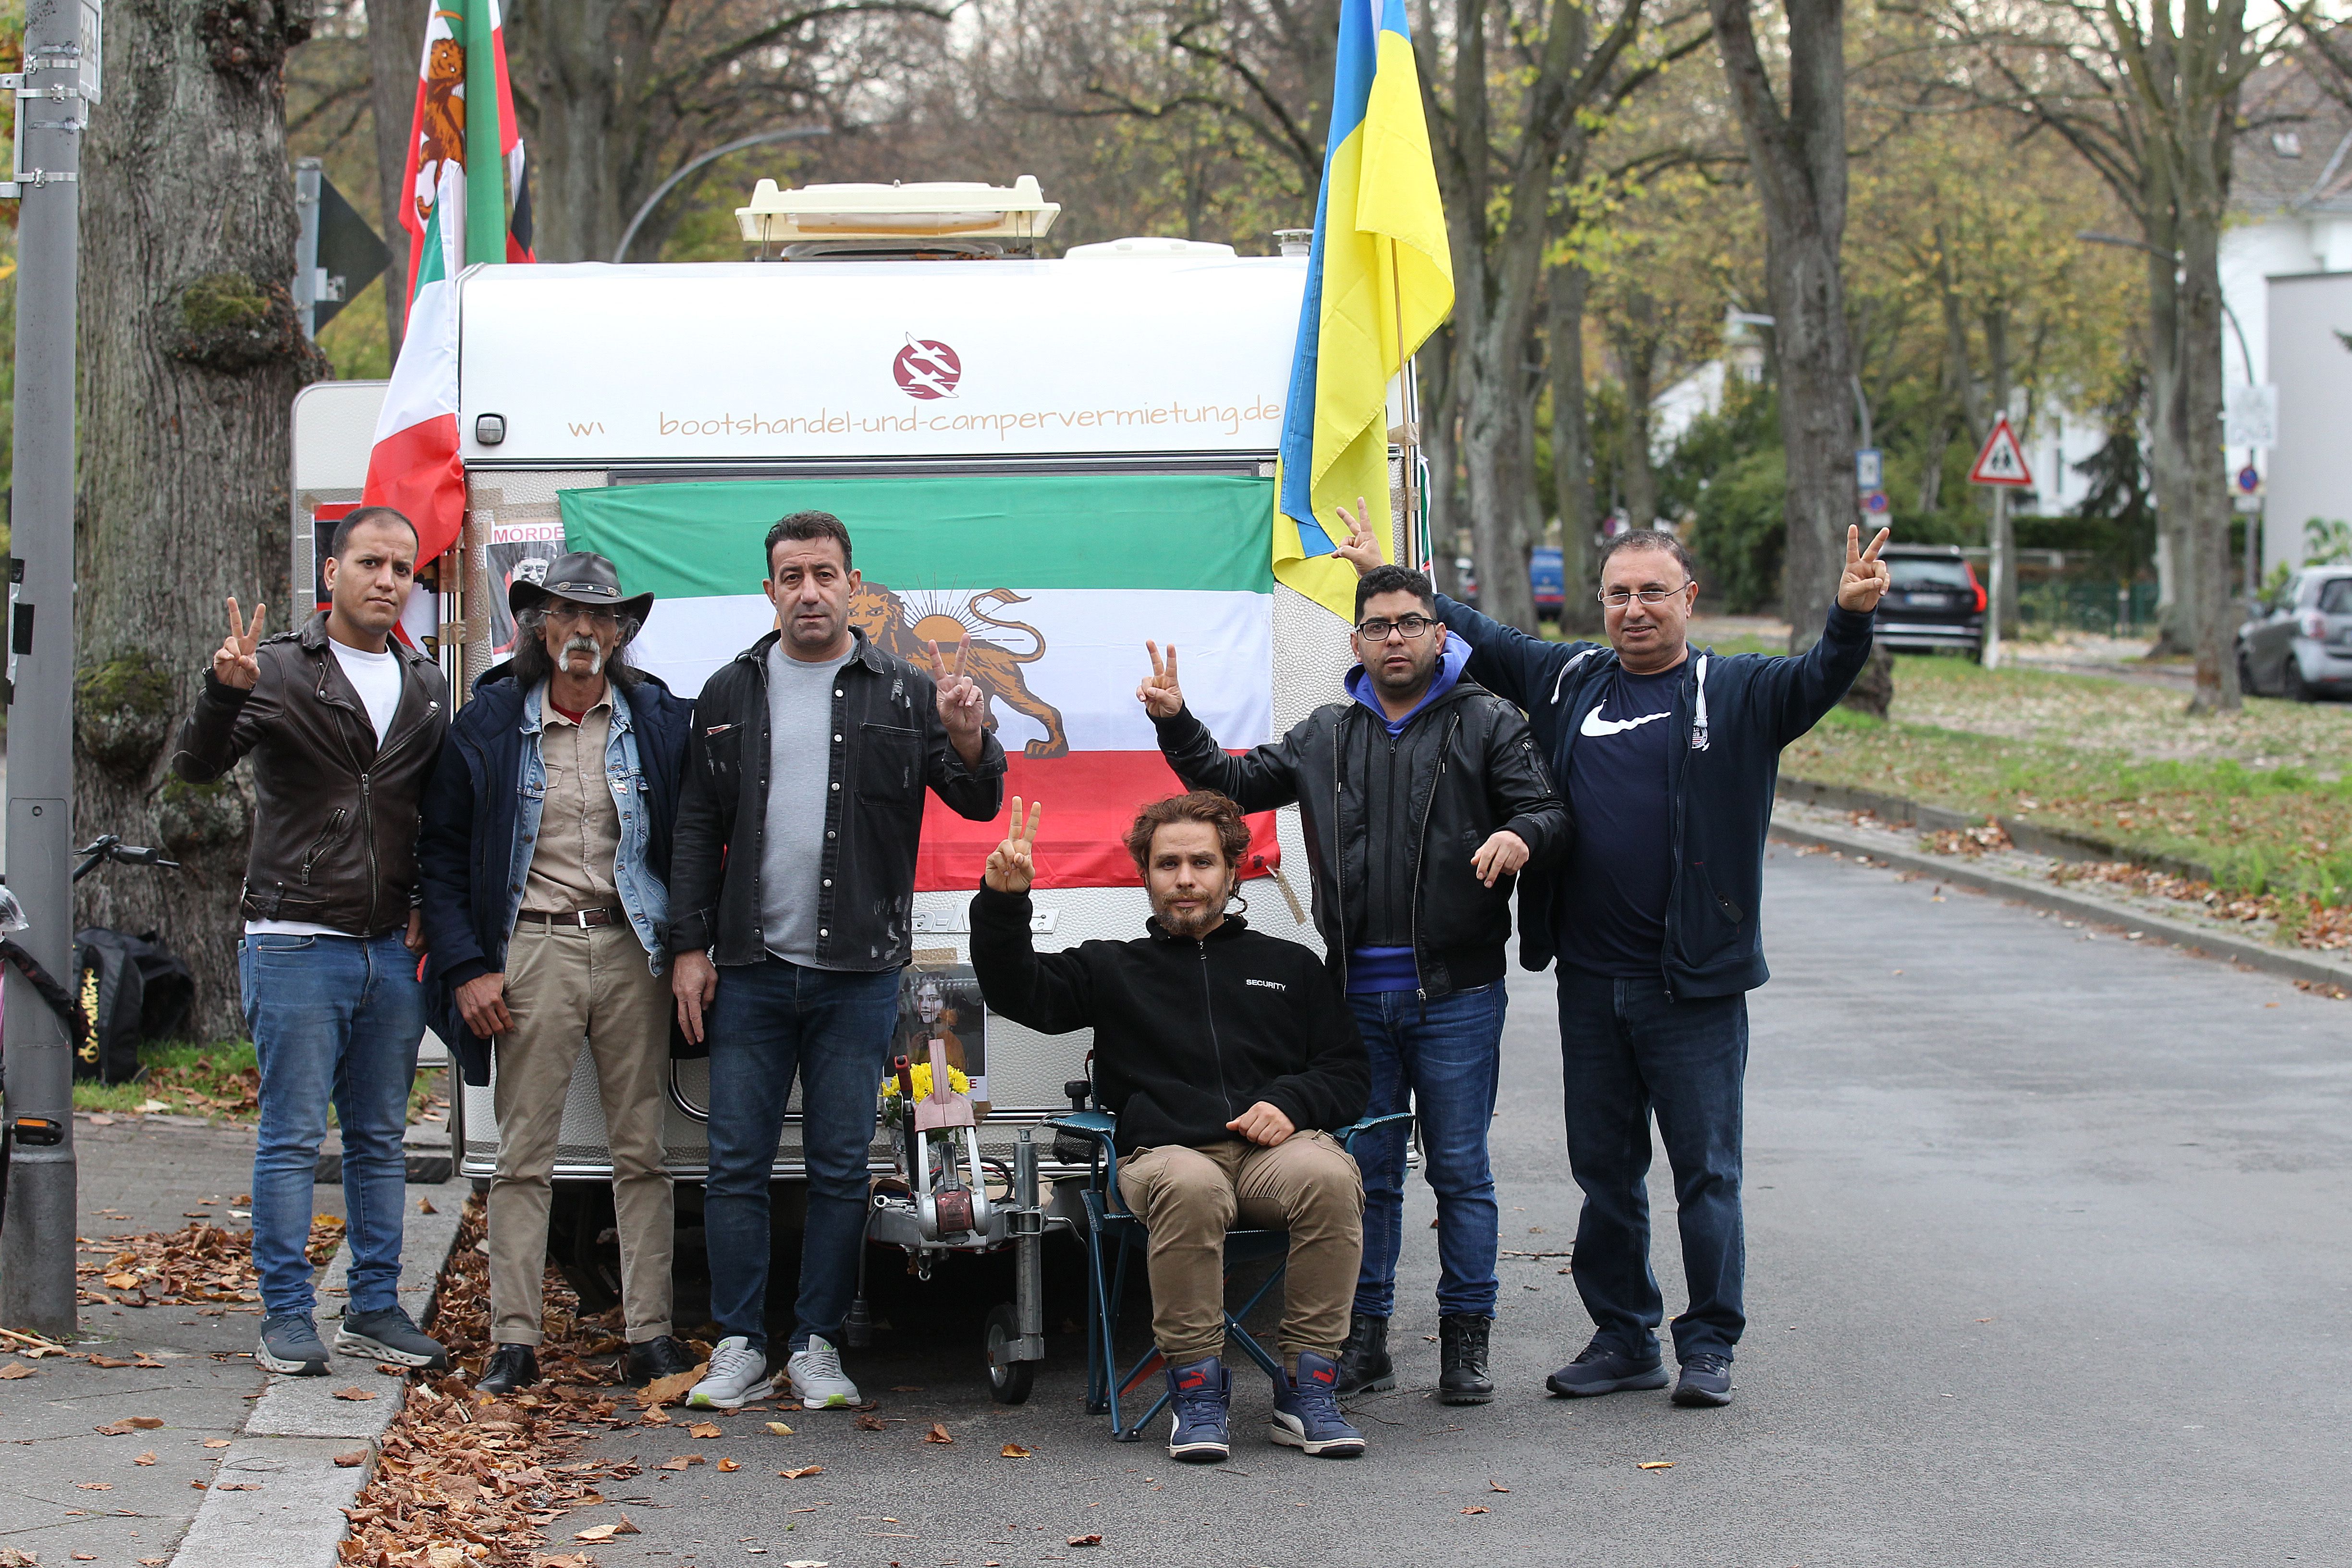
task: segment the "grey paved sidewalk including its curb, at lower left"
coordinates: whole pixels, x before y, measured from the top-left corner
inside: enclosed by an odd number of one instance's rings
[[[191,1218],[242,1229],[254,1131],[188,1117],[75,1114],[80,1225],[87,1246],[108,1237],[172,1232]],[[207,1201],[209,1199],[209,1201]],[[437,1213],[419,1213],[419,1199]],[[466,1185],[412,1185],[402,1305],[419,1319],[456,1237]],[[318,1213],[341,1213],[343,1192],[318,1187]],[[320,1335],[343,1309],[339,1251],[320,1279]],[[85,1305],[73,1356],[0,1354],[0,1552],[33,1552],[42,1568],[73,1561],[329,1568],[341,1507],[367,1453],[400,1410],[405,1380],[372,1361],[336,1356],[327,1378],[270,1378],[254,1366],[261,1314],[252,1305]],[[9,1373],[24,1368],[24,1373]],[[336,1389],[374,1399],[339,1401]],[[132,1422],[148,1425],[132,1425]],[[238,1490],[230,1490],[238,1488]],[[245,1490],[249,1488],[249,1490]],[[85,1556],[87,1554],[87,1556]]]

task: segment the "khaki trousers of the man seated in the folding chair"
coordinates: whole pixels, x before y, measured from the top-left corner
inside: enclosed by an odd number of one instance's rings
[[[1225,1349],[1225,1232],[1287,1229],[1282,1359],[1338,1359],[1364,1258],[1364,1178],[1331,1133],[1275,1147],[1160,1145],[1120,1161],[1120,1194],[1150,1232],[1152,1340],[1169,1366]]]

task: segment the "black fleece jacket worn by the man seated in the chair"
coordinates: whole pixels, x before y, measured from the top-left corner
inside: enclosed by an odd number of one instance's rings
[[[1117,1114],[1120,1154],[1230,1143],[1265,1100],[1298,1128],[1364,1114],[1371,1065],[1355,1013],[1310,947],[1240,917],[1202,940],[1150,922],[1131,943],[1030,947],[1028,893],[971,898],[971,969],[988,1006],[1044,1034],[1094,1027],[1094,1084]]]

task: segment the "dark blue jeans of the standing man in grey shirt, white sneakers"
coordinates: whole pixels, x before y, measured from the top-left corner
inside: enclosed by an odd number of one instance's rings
[[[898,1023],[898,971],[802,969],[779,957],[720,969],[710,1006],[710,1316],[722,1335],[767,1345],[767,1187],[783,1107],[800,1074],[809,1225],[800,1237],[793,1349],[842,1342],[866,1244],[866,1157],[882,1067]]]

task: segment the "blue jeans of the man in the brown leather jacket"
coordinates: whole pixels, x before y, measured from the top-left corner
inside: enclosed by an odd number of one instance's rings
[[[308,1314],[310,1178],[327,1105],[343,1126],[343,1237],[350,1314],[400,1305],[409,1081],[426,1032],[426,987],[400,931],[247,936],[238,943],[245,1025],[261,1058],[254,1145],[254,1272],[268,1316]]]

